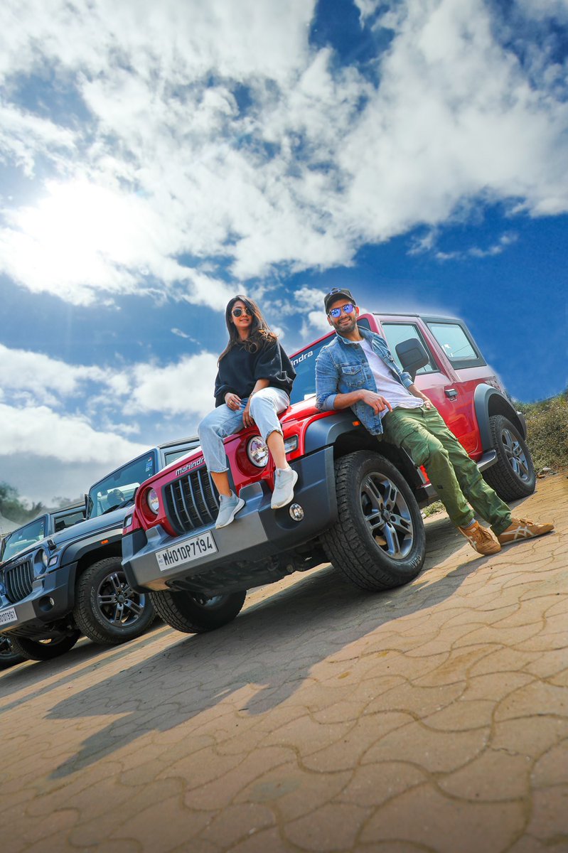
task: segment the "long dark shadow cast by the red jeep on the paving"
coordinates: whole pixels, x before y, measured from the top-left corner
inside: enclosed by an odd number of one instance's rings
[[[224,628],[189,635],[55,705],[49,719],[114,719],[86,738],[51,778],[78,772],[145,734],[168,731],[228,699],[233,711],[270,711],[302,686],[316,664],[381,625],[445,601],[486,563],[481,557],[467,560],[431,583],[374,595],[347,583],[333,566],[300,576]],[[236,696],[242,688],[247,688],[243,696]]]

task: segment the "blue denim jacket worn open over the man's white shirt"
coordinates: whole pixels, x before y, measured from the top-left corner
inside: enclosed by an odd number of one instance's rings
[[[359,332],[363,338],[370,341],[374,351],[405,388],[413,384],[410,374],[398,367],[385,339],[381,338],[380,334],[370,332],[366,328],[359,328]],[[348,394],[358,388],[377,392],[367,357],[362,351],[362,346],[355,340],[348,340],[340,334],[335,334],[332,342],[323,347],[316,359],[316,408],[321,411],[331,410],[338,393]],[[375,415],[367,403],[355,403],[351,409],[363,427],[373,435],[380,435],[383,432],[380,415]]]

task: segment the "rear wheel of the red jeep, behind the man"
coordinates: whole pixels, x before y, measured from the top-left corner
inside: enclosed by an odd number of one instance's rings
[[[516,501],[532,495],[536,486],[535,466],[518,428],[504,415],[491,415],[490,435],[497,461],[484,472],[485,482],[501,501]]]

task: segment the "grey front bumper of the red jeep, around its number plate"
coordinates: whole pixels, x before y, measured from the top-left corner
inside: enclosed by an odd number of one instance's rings
[[[130,586],[148,589],[189,589],[218,595],[270,583],[298,568],[290,552],[319,536],[337,520],[337,498],[333,476],[333,447],[323,448],[293,462],[298,473],[293,503],[304,510],[294,521],[289,507],[270,508],[270,490],[264,483],[246,486],[241,497],[246,505],[228,527],[200,527],[171,537],[161,525],[123,538],[123,566]],[[183,545],[211,531],[216,554],[200,556],[182,566],[160,570],[156,551]]]

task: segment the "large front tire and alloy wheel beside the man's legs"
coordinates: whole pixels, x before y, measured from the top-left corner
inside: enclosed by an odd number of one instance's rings
[[[376,591],[409,583],[424,564],[426,532],[403,475],[379,453],[357,450],[336,461],[335,489],[339,520],[321,537],[333,566],[361,589]],[[393,497],[397,499],[396,520],[385,521]],[[401,528],[394,532],[394,545],[393,524]],[[385,544],[378,543],[374,535]],[[391,554],[397,553],[397,544],[400,552],[395,559]]]

